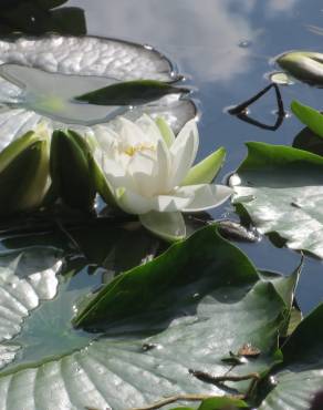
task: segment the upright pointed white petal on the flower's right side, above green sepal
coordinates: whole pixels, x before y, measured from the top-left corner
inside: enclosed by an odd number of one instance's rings
[[[198,150],[198,130],[195,120],[185,124],[169,151],[171,154],[171,180],[169,188],[180,185],[190,170]]]

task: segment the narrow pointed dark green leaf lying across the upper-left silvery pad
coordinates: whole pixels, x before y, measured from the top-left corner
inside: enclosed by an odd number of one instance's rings
[[[159,100],[167,94],[187,94],[189,91],[156,80],[126,81],[75,96],[76,101],[96,105],[139,105]]]

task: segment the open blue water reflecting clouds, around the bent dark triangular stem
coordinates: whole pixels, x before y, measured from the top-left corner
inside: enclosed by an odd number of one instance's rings
[[[67,6],[85,10],[87,32],[149,43],[163,51],[196,86],[200,109],[200,157],[223,145],[228,151],[222,178],[246,155],[246,141],[291,144],[301,130],[288,115],[275,131],[260,130],[225,112],[268,84],[275,68],[270,60],[286,50],[323,49],[323,4],[320,0],[72,0]],[[323,91],[303,84],[281,86],[286,111],[292,99],[317,109]],[[269,93],[254,106],[254,117],[273,124],[275,100]],[[232,216],[218,209],[213,216]],[[240,245],[239,245],[240,246]],[[291,273],[300,255],[278,249],[268,239],[242,245],[260,268]],[[309,311],[323,299],[323,266],[306,258],[298,288],[299,303]]]

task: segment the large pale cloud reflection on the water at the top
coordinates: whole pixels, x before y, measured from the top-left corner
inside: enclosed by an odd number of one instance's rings
[[[84,8],[86,2],[71,1]],[[97,1],[86,10],[86,19],[92,33],[106,28],[106,35],[162,43],[188,72],[229,81],[250,63],[250,48],[239,48],[239,43],[253,42],[259,35],[248,21],[248,8],[239,6],[242,12],[236,12],[237,4],[235,0],[173,1],[171,7],[158,0],[142,0],[139,6],[127,0]]]

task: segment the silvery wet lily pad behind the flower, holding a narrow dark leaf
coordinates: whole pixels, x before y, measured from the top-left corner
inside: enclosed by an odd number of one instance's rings
[[[18,38],[0,41],[0,131],[4,135],[0,148],[41,121],[85,133],[115,115],[133,119],[146,112],[165,116],[177,132],[196,115],[195,104],[183,100],[178,89],[138,106],[74,101],[80,94],[123,81],[178,80],[169,60],[149,47],[95,37]]]

